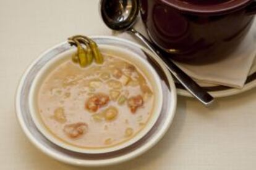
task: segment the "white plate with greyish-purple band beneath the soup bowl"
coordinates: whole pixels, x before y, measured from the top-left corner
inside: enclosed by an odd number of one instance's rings
[[[15,99],[17,118],[25,135],[38,149],[41,150],[41,152],[46,153],[56,160],[74,164],[76,166],[106,166],[109,164],[121,163],[141,155],[153,147],[153,145],[163,137],[173,121],[176,110],[176,88],[174,86],[174,81],[160,59],[157,59],[155,55],[148,51],[148,49],[145,49],[145,47],[127,41],[126,39],[115,38],[113,36],[94,36],[92,38],[101,45],[108,44],[109,46],[118,46],[122,49],[132,51],[136,55],[142,57],[145,61],[150,55],[152,59],[148,60],[148,62],[153,65],[153,68],[158,72],[158,75],[161,75],[160,84],[164,100],[161,107],[161,113],[155,124],[153,124],[153,127],[151,127],[150,131],[148,131],[145,136],[137,142],[134,142],[134,144],[108,153],[77,153],[69,149],[66,150],[48,140],[48,138],[38,130],[32,118],[33,113],[30,113],[31,104],[28,102],[28,99],[32,93],[33,81],[40,75],[39,72],[45,65],[47,65],[48,62],[53,61],[56,56],[70,51],[73,47],[70,47],[67,42],[63,42],[44,52],[30,65],[30,67],[27,68],[20,80]]]

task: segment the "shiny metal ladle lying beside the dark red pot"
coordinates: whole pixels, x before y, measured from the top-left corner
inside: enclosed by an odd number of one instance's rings
[[[200,102],[205,105],[213,102],[213,97],[207,91],[198,86],[192,78],[186,75],[171,60],[164,57],[147,38],[132,28],[139,13],[138,0],[101,0],[100,12],[103,21],[109,28],[117,31],[129,31],[144,42],[148,49],[163,60],[168,70],[177,78],[182,86]]]

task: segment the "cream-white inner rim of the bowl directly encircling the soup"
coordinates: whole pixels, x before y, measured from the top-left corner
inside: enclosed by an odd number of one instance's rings
[[[156,73],[155,69],[148,63],[145,59],[140,57],[138,54],[134,54],[134,52],[130,52],[127,49],[121,49],[121,47],[114,47],[114,46],[109,46],[105,44],[100,44],[99,48],[103,51],[119,51],[126,53],[125,55],[122,55],[124,57],[124,60],[132,62],[137,68],[143,67],[141,70],[144,70],[142,72],[148,72],[151,75],[152,80],[150,81],[153,89],[156,91],[155,93],[155,101],[153,104],[153,113],[151,115],[151,118],[149,119],[148,123],[143,127],[142,131],[140,131],[138,134],[136,134],[134,137],[130,138],[126,142],[123,142],[122,144],[115,145],[113,147],[106,147],[106,148],[80,148],[80,147],[75,147],[72,144],[65,144],[61,140],[59,140],[57,137],[54,137],[51,132],[46,128],[45,124],[42,124],[41,122],[43,121],[41,119],[40,113],[38,113],[38,110],[36,108],[36,102],[35,98],[36,95],[38,94],[39,87],[40,87],[40,82],[42,79],[45,79],[50,72],[48,71],[50,68],[54,67],[55,69],[57,66],[57,63],[63,63],[63,61],[59,62],[60,60],[67,60],[70,54],[74,53],[75,48],[70,48],[69,50],[62,52],[61,54],[56,55],[53,59],[49,60],[41,69],[38,71],[36,78],[33,79],[30,93],[28,96],[28,103],[30,107],[30,115],[32,116],[33,122],[35,123],[37,129],[46,137],[46,139],[50,140],[54,144],[58,145],[59,147],[66,148],[67,150],[73,151],[73,152],[78,152],[78,153],[88,153],[88,154],[93,154],[93,153],[108,153],[108,152],[114,152],[117,150],[121,150],[122,148],[129,147],[130,145],[134,144],[138,140],[142,139],[143,136],[147,135],[147,133],[150,131],[150,129],[154,126],[156,123],[158,117],[160,116],[161,113],[161,108],[163,105],[163,89],[161,87],[160,83],[160,77]],[[49,51],[53,51],[55,48],[52,47],[49,49]],[[105,52],[103,52],[105,53]],[[116,52],[117,53],[117,52]],[[106,52],[108,55],[108,52]],[[117,58],[122,58],[120,57],[121,54],[119,55],[114,55]],[[43,58],[45,55],[39,55],[38,58]],[[38,87],[39,86],[39,87]]]

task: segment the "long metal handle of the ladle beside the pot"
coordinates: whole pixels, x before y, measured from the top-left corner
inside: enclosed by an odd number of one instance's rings
[[[184,71],[182,71],[175,63],[173,63],[171,60],[164,57],[154,46],[153,44],[148,41],[145,36],[140,34],[138,31],[136,31],[134,28],[130,28],[130,33],[134,34],[139,38],[142,42],[145,43],[145,45],[150,49],[153,54],[155,54],[157,57],[163,60],[165,66],[168,68],[168,70],[173,74],[174,77],[177,78],[177,80],[184,86],[187,91],[189,91],[192,95],[194,95],[195,98],[197,98],[200,102],[202,102],[204,105],[210,105],[210,103],[213,102],[213,97],[208,94],[207,91],[205,91],[202,87],[200,87],[195,81],[190,78]]]

